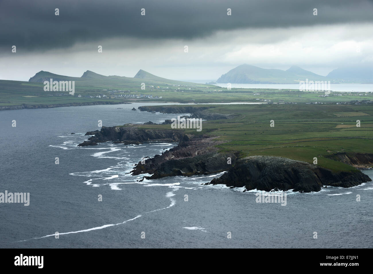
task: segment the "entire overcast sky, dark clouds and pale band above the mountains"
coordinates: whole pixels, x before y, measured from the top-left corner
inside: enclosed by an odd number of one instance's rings
[[[372,0],[0,1],[0,79],[7,80],[28,81],[40,70],[133,77],[139,69],[216,80],[244,63],[326,75],[372,64],[372,45]]]

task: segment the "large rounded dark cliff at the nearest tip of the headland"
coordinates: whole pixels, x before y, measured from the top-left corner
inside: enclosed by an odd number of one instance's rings
[[[272,189],[299,192],[320,191],[323,185],[353,187],[371,179],[364,173],[332,172],[310,163],[272,156],[250,156],[240,159],[220,178],[207,184],[245,187],[247,190]]]

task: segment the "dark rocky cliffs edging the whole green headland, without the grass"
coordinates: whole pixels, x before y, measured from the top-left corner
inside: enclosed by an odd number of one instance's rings
[[[189,106],[146,106],[139,107],[139,109],[149,112],[192,113],[197,118],[210,115],[210,118],[215,118],[215,120],[229,119],[229,114],[207,113],[209,106],[200,107],[194,112]],[[293,191],[299,192],[320,191],[324,185],[348,188],[371,181],[358,169],[335,172],[318,165],[283,157],[240,158],[238,151],[220,152],[216,146],[223,141],[218,140],[216,136],[185,133],[177,129],[142,128],[139,125],[126,124],[117,127],[102,127],[100,131],[89,131],[85,135],[92,136],[78,146],[94,146],[106,141],[122,144],[141,144],[148,141],[178,142],[177,146],[162,152],[161,155],[147,157],[145,162],[139,161],[135,165],[131,171],[132,175],[151,174],[151,176],[144,176],[143,179],[205,175],[227,171],[220,178],[213,179],[207,184],[225,184],[229,187],[264,191],[294,189]],[[370,154],[354,156],[334,154],[329,157],[349,165],[373,163],[373,155]]]

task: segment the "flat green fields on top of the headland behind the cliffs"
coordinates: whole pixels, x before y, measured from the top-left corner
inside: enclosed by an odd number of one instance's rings
[[[241,157],[281,156],[309,163],[317,157],[318,165],[341,171],[356,169],[325,156],[373,153],[373,105],[220,105],[207,111],[238,116],[203,121],[199,133],[185,131],[219,136],[218,140],[224,141],[217,145],[221,151],[239,151]],[[270,127],[270,120],[274,120],[274,127]],[[356,120],[361,121],[360,127]]]

